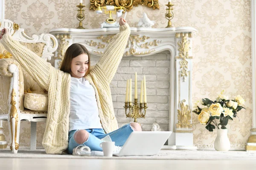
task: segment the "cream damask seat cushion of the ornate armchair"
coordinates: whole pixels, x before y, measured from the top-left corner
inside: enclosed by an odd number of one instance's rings
[[[48,94],[24,93],[24,107],[33,111],[47,111]]]

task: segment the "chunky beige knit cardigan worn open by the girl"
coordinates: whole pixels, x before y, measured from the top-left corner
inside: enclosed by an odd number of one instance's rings
[[[110,82],[125,52],[130,27],[127,23],[119,27],[99,62],[85,77],[96,93],[99,117],[106,133],[118,129],[111,98]],[[70,74],[51,66],[38,55],[3,35],[2,43],[32,78],[48,91],[48,113],[43,137],[46,153],[61,154],[68,146],[70,114]]]

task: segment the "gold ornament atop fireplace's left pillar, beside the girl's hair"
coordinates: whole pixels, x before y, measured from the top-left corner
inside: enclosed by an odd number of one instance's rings
[[[60,68],[65,52],[69,47],[69,41],[66,41],[66,39],[70,39],[71,36],[70,34],[57,34],[56,38],[59,40],[59,45],[57,49],[58,55],[55,57],[55,59],[61,59],[61,61],[58,61],[58,66]]]

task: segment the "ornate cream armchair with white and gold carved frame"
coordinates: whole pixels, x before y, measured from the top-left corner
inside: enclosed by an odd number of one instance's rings
[[[27,36],[24,29],[10,20],[0,20],[0,29],[7,28],[15,40],[49,61],[58,48],[57,39],[50,34]],[[31,122],[31,150],[36,149],[36,122],[46,121],[47,91],[26,73],[15,59],[7,55],[0,43],[0,120],[8,121],[10,148],[19,148],[20,121]],[[6,58],[7,56],[7,58]]]

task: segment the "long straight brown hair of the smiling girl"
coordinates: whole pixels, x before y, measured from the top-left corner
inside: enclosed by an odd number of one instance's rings
[[[74,43],[71,46],[67,48],[67,51],[65,52],[63,61],[61,63],[61,68],[60,70],[63,72],[67,72],[71,74],[71,61],[73,58],[81,55],[81,54],[87,54],[88,55],[88,69],[84,75],[87,76],[90,72],[90,53],[88,50],[85,48],[85,46],[79,44],[79,43]]]

